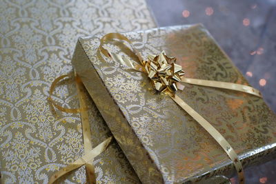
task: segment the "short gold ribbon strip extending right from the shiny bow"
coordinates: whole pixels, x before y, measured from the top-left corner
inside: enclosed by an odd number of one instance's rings
[[[186,77],[182,77],[181,82],[195,84],[195,85],[204,85],[204,86],[213,87],[213,88],[224,88],[227,90],[246,92],[248,94],[253,94],[255,96],[262,97],[262,94],[259,92],[259,90],[252,88],[248,85],[242,85],[242,84],[238,84],[238,83],[226,83],[226,82],[221,82],[221,81],[190,79],[190,78],[186,78]]]

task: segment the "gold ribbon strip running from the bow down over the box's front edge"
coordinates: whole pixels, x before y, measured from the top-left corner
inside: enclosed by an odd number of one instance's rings
[[[222,136],[216,129],[211,125],[204,117],[198,114],[193,108],[190,107],[187,103],[185,103],[179,96],[170,96],[173,101],[175,101],[183,110],[185,110],[190,116],[197,121],[204,129],[219,143],[219,145],[224,149],[226,154],[228,154],[231,161],[233,161],[235,165],[235,169],[237,170],[238,178],[240,183],[244,183],[244,170],[242,168],[242,163],[239,161],[239,158],[231,145],[226,141],[224,136]]]

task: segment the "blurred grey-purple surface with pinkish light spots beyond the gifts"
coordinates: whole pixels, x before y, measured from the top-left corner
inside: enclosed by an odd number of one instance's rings
[[[276,0],[148,0],[148,6],[160,27],[203,23],[276,112]],[[246,169],[246,179],[276,183],[276,160]]]

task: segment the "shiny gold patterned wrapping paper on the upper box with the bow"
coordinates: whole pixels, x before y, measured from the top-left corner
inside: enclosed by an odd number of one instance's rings
[[[188,78],[248,85],[202,25],[124,35],[144,58],[161,50],[177,57]],[[72,63],[141,181],[183,183],[233,174],[221,147],[170,97],[150,90],[147,76],[99,54],[102,36],[79,39]],[[119,47],[106,48],[139,62],[126,45],[115,43]],[[244,167],[275,156],[276,116],[261,98],[188,84],[177,95],[227,139]]]

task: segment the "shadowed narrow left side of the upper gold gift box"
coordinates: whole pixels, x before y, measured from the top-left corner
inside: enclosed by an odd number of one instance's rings
[[[86,61],[87,60],[87,61]],[[85,61],[79,63],[79,61]],[[86,85],[90,96],[93,96],[93,101],[97,104],[97,108],[101,114],[106,114],[105,121],[114,121],[116,123],[110,124],[110,130],[117,130],[118,134],[114,135],[115,139],[118,140],[119,145],[123,145],[124,149],[127,150],[124,152],[129,161],[135,161],[137,164],[135,167],[135,172],[141,176],[140,180],[142,183],[161,183],[163,181],[162,176],[157,172],[157,167],[149,157],[148,152],[144,149],[140,149],[141,141],[137,139],[135,134],[132,134],[132,127],[128,125],[125,117],[121,112],[118,112],[118,106],[112,102],[112,97],[110,94],[103,93],[105,86],[99,80],[99,76],[95,70],[93,70],[90,61],[85,54],[81,43],[77,43],[75,49],[72,63],[78,63],[78,67],[75,68],[77,74],[81,78],[83,83],[90,83],[91,80],[95,85]],[[73,64],[74,65],[74,64]],[[81,72],[80,72],[81,71]],[[97,87],[97,88],[95,88]],[[121,126],[117,125],[117,122],[121,122]],[[136,151],[136,152],[135,152]]]

